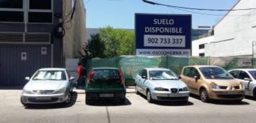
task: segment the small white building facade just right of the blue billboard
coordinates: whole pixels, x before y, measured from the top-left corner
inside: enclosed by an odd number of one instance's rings
[[[192,41],[192,56],[199,56],[200,53],[205,53],[205,49],[199,49],[199,45],[208,44],[210,42],[214,42],[214,36]]]

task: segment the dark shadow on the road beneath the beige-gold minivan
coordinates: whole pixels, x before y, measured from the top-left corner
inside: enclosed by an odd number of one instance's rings
[[[198,95],[194,95],[192,93],[190,93],[190,97],[195,98],[197,100],[201,100]],[[212,103],[215,105],[249,105],[250,104],[245,101],[237,102],[235,100],[210,100],[209,103]]]

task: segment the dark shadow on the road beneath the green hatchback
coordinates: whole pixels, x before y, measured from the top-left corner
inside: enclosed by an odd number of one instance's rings
[[[100,99],[100,100],[90,100],[90,106],[127,106],[131,105],[130,101],[126,98],[124,104],[120,104],[118,99]]]

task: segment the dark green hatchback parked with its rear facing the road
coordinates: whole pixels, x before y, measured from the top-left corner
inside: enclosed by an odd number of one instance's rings
[[[93,68],[85,85],[85,103],[96,99],[118,98],[121,104],[126,101],[124,76],[118,68]]]

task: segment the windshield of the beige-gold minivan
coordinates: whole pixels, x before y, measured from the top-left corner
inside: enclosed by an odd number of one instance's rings
[[[226,71],[218,67],[199,68],[206,79],[233,79]]]

